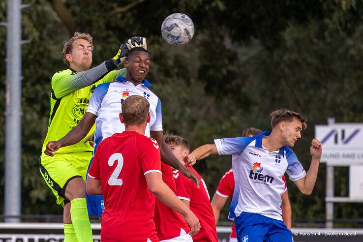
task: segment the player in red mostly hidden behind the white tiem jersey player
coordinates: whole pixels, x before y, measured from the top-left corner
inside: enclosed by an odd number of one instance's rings
[[[250,127],[243,130],[242,136],[252,137],[253,135],[260,134],[261,132],[262,130],[260,129]],[[281,195],[282,219],[285,222],[287,228],[291,230],[291,205],[287,193],[285,176],[282,177],[282,180],[285,182],[285,190]],[[235,189],[235,178],[233,176],[233,170],[230,169],[221,178],[217,190],[215,191],[212,198],[211,204],[214,212],[215,222],[218,221],[220,211],[222,210],[223,206],[226,204],[228,197],[232,199],[234,189]],[[232,223],[232,233],[229,238],[230,238],[229,242],[237,242],[236,228],[234,222]]]

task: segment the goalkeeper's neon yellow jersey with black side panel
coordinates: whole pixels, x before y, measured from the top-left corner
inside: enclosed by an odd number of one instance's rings
[[[99,81],[81,89],[72,85],[77,72],[67,69],[54,74],[52,77],[49,126],[42,152],[45,151],[49,141],[60,140],[81,121],[90,103],[92,92],[97,85],[114,82],[119,75],[124,76],[125,72],[124,68],[118,71],[111,71]],[[93,134],[94,127],[93,125],[86,138]],[[88,143],[83,143],[84,140],[77,144],[60,148],[57,153],[93,151],[93,148]]]

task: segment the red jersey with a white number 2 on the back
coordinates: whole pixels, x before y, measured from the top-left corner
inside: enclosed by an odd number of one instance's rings
[[[116,133],[97,147],[88,176],[101,181],[105,210],[102,242],[158,242],[155,196],[145,175],[161,174],[157,142],[134,131]]]

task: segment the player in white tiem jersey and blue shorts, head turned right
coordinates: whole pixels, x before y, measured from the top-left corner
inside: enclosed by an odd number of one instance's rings
[[[239,242],[291,242],[291,231],[282,221],[282,176],[286,172],[306,195],[315,185],[322,153],[320,142],[311,142],[307,172],[290,149],[301,138],[306,119],[290,110],[274,111],[271,117],[271,133],[216,139],[214,145],[201,146],[191,153],[197,160],[216,153],[232,155],[236,184],[229,218],[235,221]]]

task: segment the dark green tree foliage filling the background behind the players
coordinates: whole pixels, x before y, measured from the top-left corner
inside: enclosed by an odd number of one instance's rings
[[[64,4],[70,18],[54,3]],[[288,108],[308,117],[308,128],[294,151],[307,170],[314,125],[328,117],[363,122],[362,0],[23,0],[24,214],[61,213],[38,170],[49,119],[50,80],[66,66],[63,43],[73,31],[94,39],[93,65],[111,58],[134,35],[148,39],[148,80],[162,101],[164,131],[185,137],[191,150],[213,138],[239,136],[256,126],[270,130],[269,114]],[[160,34],[166,16],[191,17],[195,35],[185,46],[169,46]],[[6,1],[0,3],[6,21]],[[58,14],[57,14],[58,13]],[[64,13],[64,11],[62,12]],[[68,25],[70,21],[73,25]],[[6,28],[0,26],[0,60],[5,60]],[[0,111],[4,112],[5,62],[0,61]],[[0,116],[0,174],[3,174],[4,116]],[[228,156],[195,166],[212,195],[230,169]],[[335,171],[336,195],[347,196],[346,170]],[[338,184],[339,183],[339,184]],[[3,176],[0,197],[3,198]],[[325,217],[325,165],[311,196],[288,182],[293,218]],[[3,213],[3,199],[0,213]],[[362,217],[354,204],[335,206],[335,217]],[[227,208],[221,219],[227,216]]]

